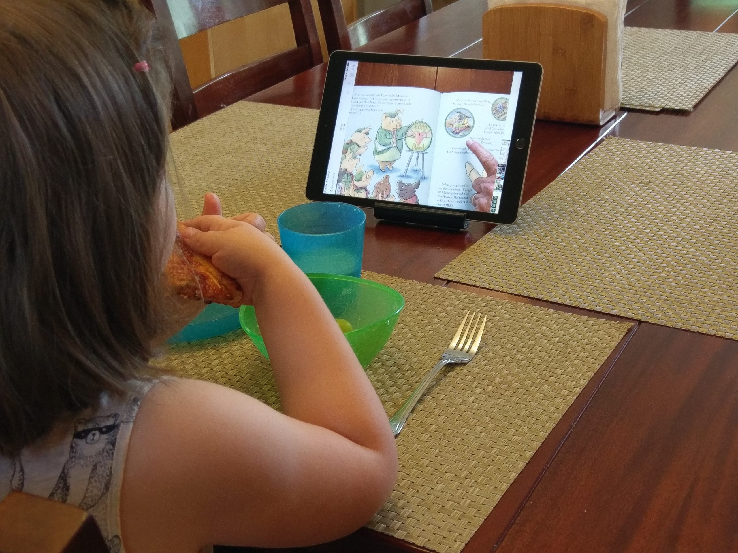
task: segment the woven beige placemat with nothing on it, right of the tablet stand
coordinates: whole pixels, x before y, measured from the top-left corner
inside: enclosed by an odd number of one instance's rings
[[[436,276],[738,339],[738,153],[606,139]]]

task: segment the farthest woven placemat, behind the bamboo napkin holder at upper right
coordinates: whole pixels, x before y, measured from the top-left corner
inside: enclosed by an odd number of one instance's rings
[[[694,111],[738,62],[738,35],[625,27],[624,108]]]

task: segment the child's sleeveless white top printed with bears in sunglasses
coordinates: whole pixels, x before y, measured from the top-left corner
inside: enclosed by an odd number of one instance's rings
[[[104,395],[100,408],[57,425],[15,459],[0,456],[0,501],[11,491],[41,495],[85,509],[111,553],[120,540],[120,486],[128,438],[141,400],[154,383],[138,383],[123,400]]]

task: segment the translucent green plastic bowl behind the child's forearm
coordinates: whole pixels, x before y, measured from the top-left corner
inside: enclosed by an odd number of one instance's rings
[[[405,306],[404,298],[389,286],[372,280],[335,274],[308,274],[308,278],[334,318],[345,319],[354,327],[345,336],[359,363],[366,368],[392,335]],[[254,308],[242,305],[238,319],[257,349],[269,359]]]

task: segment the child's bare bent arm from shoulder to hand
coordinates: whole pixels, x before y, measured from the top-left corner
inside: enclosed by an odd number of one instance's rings
[[[128,452],[126,549],[294,546],[351,532],[396,479],[376,393],[320,296],[272,240],[222,218],[193,224],[205,232],[190,246],[253,299],[285,414],[213,384],[156,386]]]

